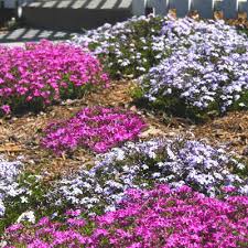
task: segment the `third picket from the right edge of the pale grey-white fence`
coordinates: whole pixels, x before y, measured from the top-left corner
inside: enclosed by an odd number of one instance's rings
[[[193,0],[192,9],[197,10],[201,18],[214,17],[214,3],[215,0]]]

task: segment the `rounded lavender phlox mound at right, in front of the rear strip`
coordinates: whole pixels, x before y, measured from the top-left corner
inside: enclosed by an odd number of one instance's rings
[[[175,115],[200,119],[247,109],[248,51],[220,54],[205,45],[174,53],[151,68],[141,82],[144,97]]]

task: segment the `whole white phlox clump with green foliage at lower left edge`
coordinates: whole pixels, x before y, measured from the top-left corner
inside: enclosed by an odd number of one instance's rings
[[[22,158],[10,162],[0,155],[0,237],[12,223],[34,222],[33,211],[37,216],[43,211],[51,213],[44,206],[47,188],[41,182],[42,176],[28,173]]]

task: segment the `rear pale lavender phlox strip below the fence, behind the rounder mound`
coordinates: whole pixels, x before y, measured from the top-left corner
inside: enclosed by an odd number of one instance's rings
[[[138,77],[177,50],[187,50],[204,42],[226,47],[233,44],[246,46],[245,41],[235,28],[220,21],[150,15],[115,25],[105,24],[76,36],[72,43],[88,46],[111,76]]]

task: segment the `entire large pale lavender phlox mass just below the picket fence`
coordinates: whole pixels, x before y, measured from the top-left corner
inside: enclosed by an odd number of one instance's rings
[[[248,40],[224,21],[151,15],[74,42],[104,57],[112,75],[143,75],[133,95],[170,114],[205,120],[247,108]]]

